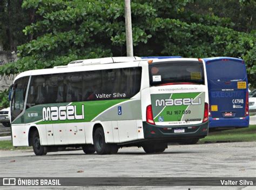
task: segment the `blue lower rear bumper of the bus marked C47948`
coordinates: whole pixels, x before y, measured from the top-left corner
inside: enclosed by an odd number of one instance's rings
[[[237,128],[237,127],[248,127],[250,117],[246,116],[243,118],[209,118],[209,128]]]

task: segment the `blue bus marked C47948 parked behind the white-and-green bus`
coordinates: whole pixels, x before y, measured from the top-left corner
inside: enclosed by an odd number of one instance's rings
[[[209,128],[226,130],[249,126],[248,81],[239,58],[204,58],[209,94]]]

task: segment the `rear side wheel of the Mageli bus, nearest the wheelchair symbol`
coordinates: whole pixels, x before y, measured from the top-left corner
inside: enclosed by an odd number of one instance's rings
[[[93,135],[93,144],[97,154],[109,154],[111,152],[111,146],[106,144],[103,128],[97,128]]]

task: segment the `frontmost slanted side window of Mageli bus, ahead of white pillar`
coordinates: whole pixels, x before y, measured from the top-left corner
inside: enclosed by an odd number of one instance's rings
[[[11,101],[11,120],[14,121],[23,111],[29,77],[23,77],[14,83],[14,97]]]

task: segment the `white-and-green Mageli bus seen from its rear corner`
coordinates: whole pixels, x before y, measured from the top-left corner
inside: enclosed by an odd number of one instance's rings
[[[205,64],[194,58],[76,60],[20,73],[12,85],[15,147],[36,155],[60,148],[86,154],[143,147],[163,152],[169,142],[208,134]]]

